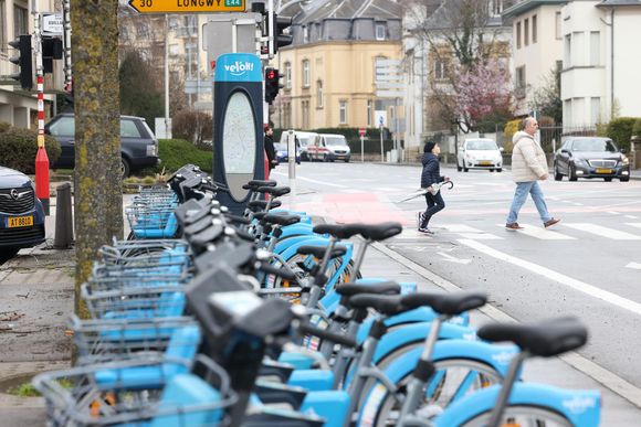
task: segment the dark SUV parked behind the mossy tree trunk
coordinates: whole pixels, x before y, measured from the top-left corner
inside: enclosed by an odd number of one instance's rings
[[[52,168],[73,169],[75,167],[75,118],[64,113],[55,116],[44,131],[54,137],[62,149],[60,158]],[[143,117],[120,116],[120,151],[123,177],[134,170],[155,167],[158,159],[158,140]]]

